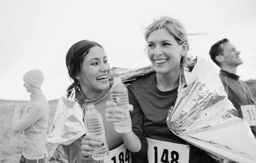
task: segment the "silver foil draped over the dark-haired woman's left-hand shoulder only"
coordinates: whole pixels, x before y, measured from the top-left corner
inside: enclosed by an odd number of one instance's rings
[[[45,162],[67,163],[62,145],[68,145],[87,133],[83,117],[87,111],[85,103],[79,104],[81,93],[75,86],[59,99],[52,126],[46,138]],[[81,93],[80,96],[83,96]],[[81,101],[81,100],[80,100]]]

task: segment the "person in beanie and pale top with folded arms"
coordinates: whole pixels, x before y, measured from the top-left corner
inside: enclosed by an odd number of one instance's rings
[[[13,114],[13,129],[22,137],[20,163],[44,163],[49,104],[41,90],[43,79],[42,71],[36,69],[23,76],[23,86],[31,99],[27,105],[16,105]]]

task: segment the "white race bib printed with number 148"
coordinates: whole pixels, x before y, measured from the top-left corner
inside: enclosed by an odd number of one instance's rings
[[[147,138],[149,163],[188,163],[189,145]]]

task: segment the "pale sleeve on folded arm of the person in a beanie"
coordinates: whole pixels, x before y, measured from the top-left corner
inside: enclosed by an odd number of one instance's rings
[[[29,126],[31,126],[33,123],[35,123],[42,114],[44,113],[43,107],[35,104],[31,108],[28,109],[28,112],[25,113],[24,116],[20,117],[21,111],[19,109],[15,109],[14,115],[13,115],[13,129],[16,133],[21,132],[22,130],[27,129]]]

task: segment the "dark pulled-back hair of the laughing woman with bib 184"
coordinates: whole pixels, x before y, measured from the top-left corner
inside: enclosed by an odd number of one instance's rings
[[[76,76],[81,71],[84,57],[90,52],[92,47],[99,46],[103,47],[95,41],[82,40],[73,44],[66,55],[66,66],[70,80],[73,79],[73,83],[67,88],[67,92],[71,90],[75,85],[79,84]],[[104,49],[103,49],[104,51]]]

